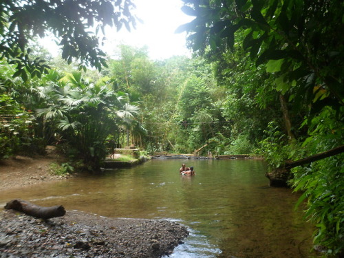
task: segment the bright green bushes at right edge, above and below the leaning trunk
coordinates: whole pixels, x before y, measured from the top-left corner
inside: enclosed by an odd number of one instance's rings
[[[343,144],[343,122],[331,107],[322,109],[308,126],[309,137],[302,147],[307,147],[309,153],[321,153]],[[292,185],[295,191],[303,192],[299,204],[307,200],[305,213],[317,228],[314,243],[325,246],[329,257],[341,257],[344,249],[343,160],[344,153],[340,153],[293,169]]]

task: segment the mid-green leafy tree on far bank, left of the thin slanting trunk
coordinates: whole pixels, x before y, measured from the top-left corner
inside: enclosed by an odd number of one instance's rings
[[[230,137],[226,153],[242,153],[244,149],[248,151],[246,153],[252,153],[259,141],[266,137],[264,131],[271,121],[288,132],[285,120],[294,122],[300,111],[283,116],[280,94],[273,87],[274,76],[266,72],[265,66],[256,68],[238,43],[235,43],[235,52],[219,53],[211,60],[217,84],[226,90],[226,97],[220,104],[228,121]],[[293,133],[296,131],[294,129]],[[239,143],[244,144],[241,151]]]

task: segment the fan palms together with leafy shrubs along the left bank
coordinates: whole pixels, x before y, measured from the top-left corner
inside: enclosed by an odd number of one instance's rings
[[[1,64],[12,71],[1,76],[2,157],[30,153],[37,145],[43,153],[47,144],[56,144],[70,159],[83,160],[85,169],[97,170],[107,154],[107,138],[138,114],[108,78],[90,83],[81,72],[50,69],[30,84],[21,78],[13,84],[13,65]]]

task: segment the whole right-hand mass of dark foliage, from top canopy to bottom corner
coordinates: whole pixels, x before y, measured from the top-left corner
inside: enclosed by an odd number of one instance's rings
[[[343,145],[343,1],[184,3],[184,12],[195,19],[178,30],[189,32],[189,45],[195,52],[208,59],[215,55],[233,58],[239,48],[247,62],[226,62],[222,67],[233,74],[246,63],[252,69],[246,67],[243,74],[249,76],[252,71],[250,82],[263,75],[262,69],[270,74],[264,75],[260,85],[252,84],[259,105],[273,107],[276,97],[281,104],[281,119],[268,118],[266,137],[261,140],[260,153],[270,166]],[[223,71],[221,80],[241,77]],[[247,79],[242,91],[252,87]],[[235,83],[228,84],[232,91]],[[266,92],[264,98],[262,92]],[[290,184],[295,191],[304,191],[299,202],[307,198],[306,215],[318,228],[315,244],[327,248],[325,255],[343,254],[343,153],[295,168],[293,175]]]

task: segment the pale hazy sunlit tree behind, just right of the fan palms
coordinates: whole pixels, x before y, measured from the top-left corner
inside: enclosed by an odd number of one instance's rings
[[[115,78],[114,89],[127,92],[130,102],[140,105],[140,123],[130,120],[127,125],[131,128],[131,141],[143,148],[152,140],[149,134],[155,135],[160,131],[161,125],[155,125],[155,118],[162,115],[160,109],[169,105],[166,100],[171,96],[171,88],[166,83],[164,71],[164,65],[149,59],[147,47],[128,45],[118,47],[118,55],[109,60],[109,68],[103,71],[103,74]],[[129,133],[126,135],[123,142],[128,144]]]

